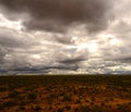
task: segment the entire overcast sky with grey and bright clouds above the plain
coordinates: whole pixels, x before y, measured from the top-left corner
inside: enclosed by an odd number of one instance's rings
[[[0,74],[131,74],[131,0],[0,0]]]

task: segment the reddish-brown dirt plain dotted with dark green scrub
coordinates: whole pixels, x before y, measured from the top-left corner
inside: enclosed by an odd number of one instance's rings
[[[0,112],[131,112],[131,75],[1,76]]]

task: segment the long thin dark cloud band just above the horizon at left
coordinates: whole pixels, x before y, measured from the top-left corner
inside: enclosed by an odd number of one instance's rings
[[[78,65],[58,65],[58,66],[32,66],[32,67],[15,67],[10,70],[0,70],[0,74],[7,74],[7,75],[23,75],[23,74],[49,74],[49,72],[55,71],[76,71],[79,69]]]

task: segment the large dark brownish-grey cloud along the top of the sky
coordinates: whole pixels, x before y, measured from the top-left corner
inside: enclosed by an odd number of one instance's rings
[[[63,32],[69,25],[81,23],[91,32],[104,29],[111,8],[111,2],[105,0],[0,0],[0,3],[9,12],[28,13],[26,28],[52,32]]]

